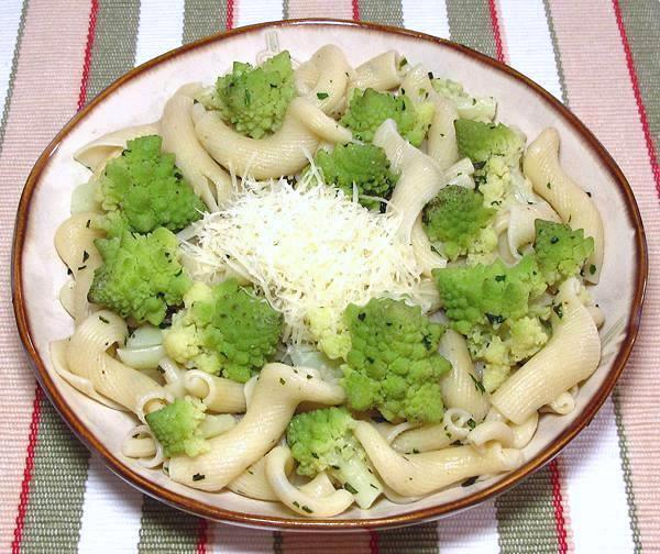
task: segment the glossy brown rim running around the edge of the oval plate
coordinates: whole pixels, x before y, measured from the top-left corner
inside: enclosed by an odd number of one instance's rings
[[[40,181],[41,174],[46,166],[51,155],[56,149],[63,138],[69,133],[69,131],[77,125],[79,121],[85,119],[94,108],[101,102],[106,97],[114,92],[124,82],[133,79],[141,75],[146,69],[161,64],[162,62],[173,59],[176,56],[186,53],[188,51],[205,46],[210,43],[222,42],[223,40],[253,31],[258,31],[267,27],[282,27],[282,26],[329,26],[329,25],[341,25],[344,27],[358,27],[377,31],[386,34],[404,35],[440,44],[443,47],[448,47],[465,54],[483,64],[486,64],[497,71],[505,73],[508,76],[514,77],[518,81],[524,82],[529,89],[531,89],[538,97],[551,106],[564,120],[566,120],[582,136],[582,138],[593,148],[603,162],[612,177],[617,182],[619,189],[624,193],[628,217],[631,219],[635,226],[635,243],[636,243],[636,257],[638,264],[636,266],[635,275],[635,295],[632,298],[632,309],[628,320],[626,336],[622,342],[619,352],[613,362],[613,367],[606,376],[605,380],[597,389],[594,397],[584,407],[580,417],[573,421],[543,452],[539,453],[534,458],[529,459],[525,465],[506,475],[497,484],[473,492],[464,498],[446,502],[439,506],[430,508],[424,508],[418,510],[411,510],[406,513],[391,516],[385,518],[372,518],[372,519],[350,519],[350,520],[334,520],[334,519],[318,519],[318,520],[298,520],[293,518],[278,518],[278,517],[266,517],[255,516],[251,513],[235,512],[226,510],[222,508],[211,507],[198,500],[190,499],[177,492],[166,490],[158,485],[155,485],[151,480],[142,477],[134,473],[128,466],[125,466],[120,459],[118,459],[112,453],[110,453],[97,439],[96,436],[85,426],[76,413],[69,408],[66,400],[57,390],[53,379],[48,375],[48,372],[41,359],[31,336],[30,321],[25,309],[25,299],[22,286],[23,272],[22,272],[22,254],[23,245],[25,242],[28,222],[30,217],[30,203],[32,196]],[[558,99],[556,99],[550,92],[537,85],[535,81],[513,69],[512,67],[502,64],[480,52],[476,52],[468,46],[458,44],[444,38],[439,38],[432,35],[420,33],[417,31],[409,31],[399,27],[393,27],[387,25],[381,25],[376,23],[355,22],[348,20],[338,19],[298,19],[298,20],[286,20],[286,21],[273,21],[258,23],[255,25],[239,27],[224,33],[208,36],[200,41],[196,41],[190,44],[180,46],[179,48],[167,52],[154,59],[151,59],[131,71],[127,73],[112,85],[106,88],[100,95],[98,95],[89,104],[80,110],[72,120],[57,133],[55,138],[46,146],[44,152],[35,163],[28,180],[25,188],[21,196],[19,209],[16,213],[14,237],[13,237],[13,250],[11,257],[11,284],[12,284],[12,302],[14,309],[14,315],[16,319],[18,330],[30,357],[31,364],[34,368],[34,373],[41,386],[44,388],[51,402],[55,406],[57,411],[61,413],[63,419],[75,432],[75,434],[82,441],[82,443],[91,451],[98,452],[105,464],[120,476],[125,481],[130,483],[143,492],[164,501],[175,508],[185,510],[187,512],[200,516],[204,518],[212,519],[216,521],[229,522],[239,525],[248,525],[264,529],[289,529],[298,531],[351,531],[359,529],[386,529],[403,525],[410,525],[415,523],[421,523],[433,519],[439,519],[442,516],[464,510],[477,503],[481,503],[488,498],[496,495],[503,494],[506,490],[514,487],[522,478],[541,468],[544,464],[550,462],[557,456],[560,451],[594,418],[603,402],[606,400],[608,395],[612,392],[620,373],[626,365],[626,362],[632,350],[632,345],[637,337],[637,333],[641,320],[641,309],[644,303],[644,296],[646,290],[646,281],[648,275],[648,252],[646,244],[646,235],[641,215],[637,207],[637,202],[632,195],[632,190],[624,176],[623,171],[617,166],[616,162],[601,144],[601,142],[593,135],[593,133],[582,123],[576,115],[574,115],[566,107],[564,107]]]

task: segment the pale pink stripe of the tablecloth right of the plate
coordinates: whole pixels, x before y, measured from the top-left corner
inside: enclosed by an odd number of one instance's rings
[[[613,7],[596,0],[552,1],[551,11],[571,108],[626,174],[653,264],[660,256],[660,204]],[[660,549],[660,274],[654,269],[651,265],[641,331],[619,384],[639,531],[648,551]]]

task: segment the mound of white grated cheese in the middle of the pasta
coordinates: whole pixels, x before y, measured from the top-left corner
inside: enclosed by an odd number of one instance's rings
[[[193,278],[238,274],[261,289],[285,320],[285,341],[314,342],[309,314],[322,309],[340,332],[344,308],[373,297],[430,309],[413,248],[397,235],[400,217],[373,213],[314,179],[243,180],[222,211],[182,234]],[[190,263],[193,262],[193,263]]]

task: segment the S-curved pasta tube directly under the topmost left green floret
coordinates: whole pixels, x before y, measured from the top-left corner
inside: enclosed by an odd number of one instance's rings
[[[294,98],[282,126],[265,138],[237,133],[217,113],[207,112],[195,125],[199,141],[219,164],[243,177],[256,179],[294,175],[308,163],[321,140],[348,143],[352,135],[316,106]]]

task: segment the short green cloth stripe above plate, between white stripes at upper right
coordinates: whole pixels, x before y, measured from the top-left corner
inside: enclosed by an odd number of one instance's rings
[[[495,57],[495,37],[488,2],[485,0],[447,0],[451,40]]]

